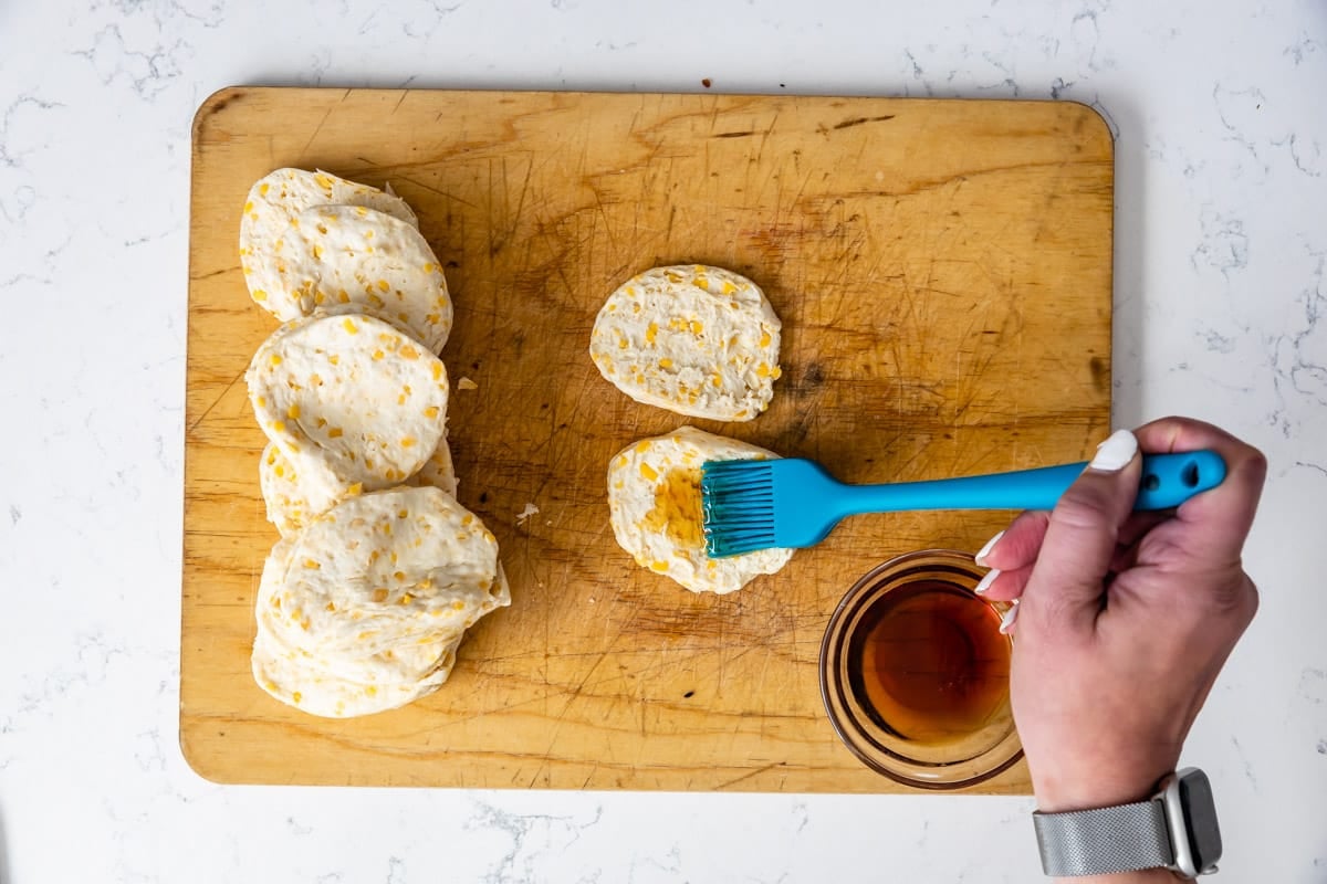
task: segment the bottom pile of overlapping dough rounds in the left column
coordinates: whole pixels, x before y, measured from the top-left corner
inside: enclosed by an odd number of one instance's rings
[[[273,547],[253,677],[317,716],[391,709],[443,684],[464,631],[510,603],[496,539],[450,494],[364,494]]]

